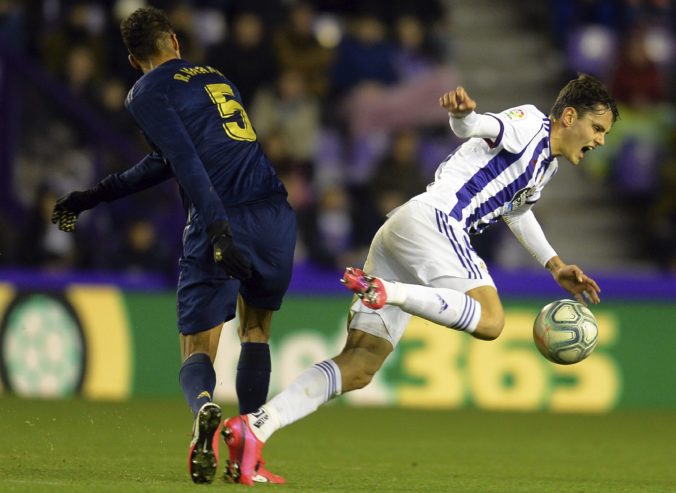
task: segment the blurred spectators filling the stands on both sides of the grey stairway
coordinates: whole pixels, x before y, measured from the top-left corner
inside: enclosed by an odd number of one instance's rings
[[[49,223],[60,194],[147,151],[124,109],[140,73],[119,35],[145,3],[0,0],[0,266],[175,279],[185,218],[173,183],[84,213],[74,235]],[[361,264],[385,214],[423,191],[459,143],[437,104],[458,79],[453,2],[150,3],[169,13],[183,58],[240,90],[298,213],[298,262]],[[550,11],[553,50],[571,71],[607,81],[623,105],[613,130],[623,138],[613,135],[593,176],[646,210],[657,262],[676,270],[673,6],[551,0]]]

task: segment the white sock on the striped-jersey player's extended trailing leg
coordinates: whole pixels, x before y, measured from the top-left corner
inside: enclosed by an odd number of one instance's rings
[[[328,359],[301,373],[285,390],[250,413],[249,424],[256,438],[265,442],[278,429],[313,413],[319,406],[340,395],[338,365]]]

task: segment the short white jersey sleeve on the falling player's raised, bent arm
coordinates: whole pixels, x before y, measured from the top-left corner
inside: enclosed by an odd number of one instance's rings
[[[486,113],[500,122],[500,138],[491,147],[502,146],[508,152],[519,153],[543,126],[544,114],[535,106],[517,106],[501,113]]]

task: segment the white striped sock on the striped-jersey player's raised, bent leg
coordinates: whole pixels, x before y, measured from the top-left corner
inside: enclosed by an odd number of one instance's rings
[[[460,291],[382,280],[387,303],[430,322],[472,333],[481,318],[481,305]]]

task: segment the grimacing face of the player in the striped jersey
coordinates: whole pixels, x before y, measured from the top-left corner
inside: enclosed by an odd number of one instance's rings
[[[586,152],[605,144],[606,134],[612,125],[613,113],[610,109],[589,111],[581,116],[576,114],[567,129],[563,155],[572,164],[580,164]]]

